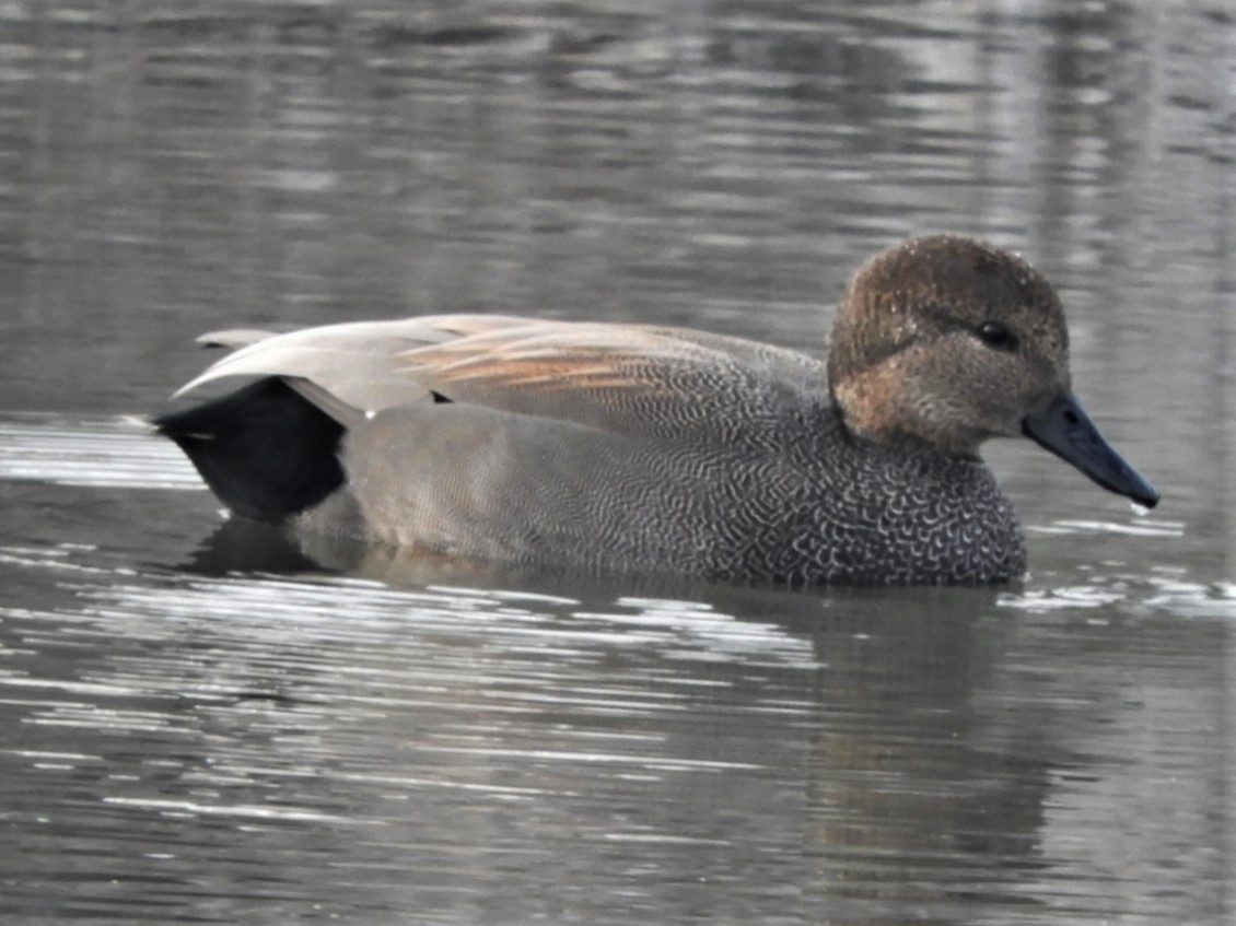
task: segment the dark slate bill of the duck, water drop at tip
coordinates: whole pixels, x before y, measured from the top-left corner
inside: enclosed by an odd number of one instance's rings
[[[1059,395],[1046,411],[1022,421],[1021,430],[1104,489],[1146,507],[1158,504],[1154,486],[1111,448],[1072,395]]]

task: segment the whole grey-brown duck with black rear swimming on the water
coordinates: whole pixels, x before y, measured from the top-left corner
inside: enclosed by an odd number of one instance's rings
[[[1025,261],[963,237],[869,261],[826,362],[687,328],[435,315],[240,348],[157,420],[236,515],[451,556],[811,583],[996,583],[1026,554],[979,458],[1026,435],[1145,505],[1073,398]]]

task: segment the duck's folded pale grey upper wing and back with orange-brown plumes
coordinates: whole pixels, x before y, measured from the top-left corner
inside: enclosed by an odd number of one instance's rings
[[[819,361],[685,328],[439,315],[221,335],[211,340],[240,349],[177,395],[226,377],[277,375],[345,425],[446,399],[682,440],[723,438],[732,421],[759,440],[761,427],[776,430],[823,395]]]

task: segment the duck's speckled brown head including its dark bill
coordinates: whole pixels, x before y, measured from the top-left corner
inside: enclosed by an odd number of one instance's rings
[[[973,457],[988,438],[1026,435],[1104,488],[1158,501],[1073,398],[1051,284],[984,242],[911,238],[859,269],[837,311],[828,385],[866,440]]]

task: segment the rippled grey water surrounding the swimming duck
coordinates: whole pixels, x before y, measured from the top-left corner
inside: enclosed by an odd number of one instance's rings
[[[4,921],[1234,921],[1234,163],[1222,2],[0,4]],[[1164,496],[993,447],[1011,588],[336,572],[141,423],[237,323],[818,349],[929,230]]]

